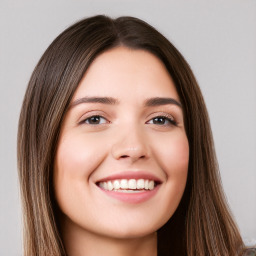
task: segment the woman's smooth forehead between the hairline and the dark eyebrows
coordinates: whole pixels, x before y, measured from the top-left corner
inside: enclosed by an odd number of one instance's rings
[[[164,64],[145,50],[117,47],[99,55],[86,71],[74,99],[84,96],[166,97],[179,99]]]

